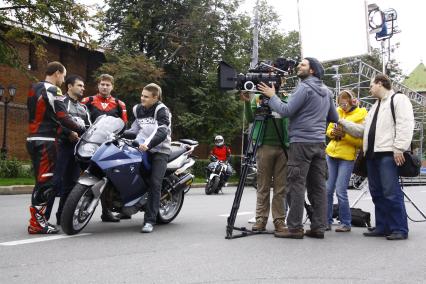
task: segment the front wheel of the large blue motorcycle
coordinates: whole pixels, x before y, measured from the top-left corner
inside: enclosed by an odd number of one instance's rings
[[[87,212],[94,195],[89,186],[77,184],[69,194],[61,215],[61,227],[67,235],[75,235],[86,227],[93,216]]]

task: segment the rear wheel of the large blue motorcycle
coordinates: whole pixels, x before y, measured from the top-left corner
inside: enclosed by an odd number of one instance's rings
[[[173,221],[180,212],[184,200],[183,190],[178,192],[162,193],[160,199],[160,209],[158,210],[157,223],[167,224]]]

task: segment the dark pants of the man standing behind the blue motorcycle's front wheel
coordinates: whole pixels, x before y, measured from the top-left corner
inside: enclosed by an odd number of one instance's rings
[[[60,197],[56,218],[60,219],[65,201],[71,190],[74,188],[78,177],[80,176],[80,166],[74,156],[75,144],[59,143],[58,159],[55,167],[55,176],[53,177],[53,185],[57,195]],[[49,219],[55,199],[49,200],[46,208],[46,218]]]

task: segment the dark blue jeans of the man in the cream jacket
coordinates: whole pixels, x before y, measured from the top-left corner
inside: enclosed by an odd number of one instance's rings
[[[368,184],[373,199],[376,231],[408,235],[404,193],[392,153],[378,154],[367,160]]]

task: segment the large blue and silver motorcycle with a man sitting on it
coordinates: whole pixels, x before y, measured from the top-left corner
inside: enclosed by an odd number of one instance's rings
[[[151,165],[149,153],[133,141],[136,134],[124,131],[120,118],[102,115],[82,135],[75,148],[76,158],[88,164],[69,194],[61,216],[63,231],[74,235],[89,223],[102,195],[113,212],[133,215],[143,211],[148,199]],[[179,214],[184,191],[193,182],[188,170],[195,161],[191,154],[198,142],[172,142],[163,179],[158,223],[169,223]]]

